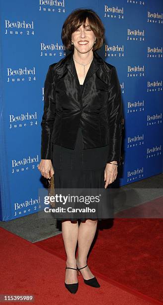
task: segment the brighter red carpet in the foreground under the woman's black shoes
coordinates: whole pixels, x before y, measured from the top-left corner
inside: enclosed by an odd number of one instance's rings
[[[1,295],[34,295],[34,303],[30,304],[36,305],[160,304],[152,300],[142,300],[141,295],[130,294],[102,279],[99,279],[99,289],[88,287],[83,284],[81,276],[77,294],[71,295],[64,286],[64,260],[2,228],[0,249]]]

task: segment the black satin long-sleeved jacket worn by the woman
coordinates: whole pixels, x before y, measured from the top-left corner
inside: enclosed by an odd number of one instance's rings
[[[108,162],[121,163],[120,84],[115,67],[96,51],[82,91],[73,52],[49,66],[44,83],[41,159],[52,159],[53,143],[74,149],[80,123],[84,150],[109,145]]]

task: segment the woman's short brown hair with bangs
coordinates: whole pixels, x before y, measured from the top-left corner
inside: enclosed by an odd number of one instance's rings
[[[105,42],[105,28],[99,16],[92,9],[82,9],[78,8],[72,11],[72,13],[66,18],[63,27],[61,38],[68,50],[74,50],[74,45],[72,45],[72,33],[77,30],[83,24],[85,27],[86,19],[88,19],[89,26],[96,36],[96,43],[93,45],[93,51],[102,47]]]

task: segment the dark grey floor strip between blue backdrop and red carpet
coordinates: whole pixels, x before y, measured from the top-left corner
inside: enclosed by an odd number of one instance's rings
[[[115,211],[163,196],[163,174],[155,175],[117,189]],[[131,200],[132,198],[132,200]],[[0,227],[34,243],[61,233],[61,222],[53,218],[52,213],[44,217],[45,212],[27,215],[10,221],[0,221]]]

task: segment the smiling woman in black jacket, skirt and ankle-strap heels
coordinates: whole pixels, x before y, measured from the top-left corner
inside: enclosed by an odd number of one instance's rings
[[[62,41],[72,52],[50,65],[46,76],[38,169],[45,178],[55,175],[56,188],[107,188],[121,160],[123,115],[116,69],[95,52],[104,42],[99,16],[74,10],[63,24]],[[79,285],[75,271],[86,285],[100,287],[87,266],[97,219],[80,217],[80,226],[78,219],[62,219],[65,286],[71,293]]]

